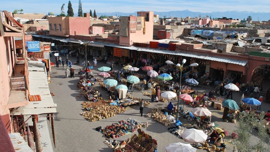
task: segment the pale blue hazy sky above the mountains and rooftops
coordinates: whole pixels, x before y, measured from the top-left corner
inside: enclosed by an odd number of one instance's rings
[[[73,12],[78,12],[79,0],[71,0]],[[175,10],[190,10],[193,12],[214,12],[214,11],[252,11],[270,12],[269,0],[81,0],[82,11],[89,12],[94,9],[97,13],[123,12],[133,13],[135,11],[156,11],[167,12]],[[67,14],[68,0],[3,0],[0,10],[13,12],[15,9],[23,9],[22,13],[48,13],[59,14],[62,4]]]

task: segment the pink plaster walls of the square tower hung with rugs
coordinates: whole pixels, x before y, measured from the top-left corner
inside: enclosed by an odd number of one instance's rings
[[[139,12],[137,12],[139,13]],[[130,32],[130,23],[128,23],[128,37],[119,37],[119,45],[131,46],[134,42],[142,43],[153,40],[153,30],[154,30],[154,12],[140,12],[140,16],[146,16],[149,13],[149,21],[145,22],[145,34],[143,34],[143,29],[136,30],[136,33]],[[121,22],[121,21],[120,21]],[[120,23],[121,25],[121,23]]]

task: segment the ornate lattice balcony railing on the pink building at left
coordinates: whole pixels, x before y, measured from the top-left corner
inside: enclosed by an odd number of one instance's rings
[[[10,76],[10,88],[11,90],[26,89],[25,76]]]

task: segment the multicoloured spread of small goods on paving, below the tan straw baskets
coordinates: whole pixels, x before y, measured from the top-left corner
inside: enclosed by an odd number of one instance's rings
[[[137,120],[129,118],[126,120],[121,120],[118,123],[113,123],[112,125],[107,126],[105,128],[102,128],[100,132],[104,134],[105,138],[108,139],[117,138],[135,132],[136,131],[135,125],[139,123],[140,122],[138,122]]]

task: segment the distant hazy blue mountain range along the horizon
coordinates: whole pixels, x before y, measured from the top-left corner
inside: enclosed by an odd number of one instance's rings
[[[143,11],[143,10],[141,10]],[[186,18],[187,16],[193,17],[206,17],[208,15],[210,18],[232,18],[232,19],[247,19],[247,16],[251,16],[253,21],[268,21],[270,19],[270,13],[265,12],[250,12],[250,11],[226,11],[226,12],[192,12],[190,10],[177,10],[177,11],[170,11],[170,12],[156,12],[154,14],[159,15],[160,18],[164,18],[165,16],[169,18],[170,16],[178,17],[178,18]],[[137,11],[133,13],[122,13],[122,12],[105,12],[105,13],[97,13],[97,16],[106,15],[106,16],[129,16],[134,15],[137,16]],[[75,15],[74,15],[75,16]]]

